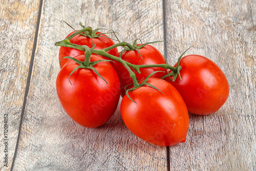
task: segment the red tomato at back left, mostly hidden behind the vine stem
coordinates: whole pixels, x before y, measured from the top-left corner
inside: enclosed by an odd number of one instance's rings
[[[68,36],[70,36],[73,33],[75,33],[75,31],[71,32]],[[99,33],[100,32],[97,32],[96,34],[99,34]],[[112,39],[108,38],[107,35],[101,34],[100,36],[105,36],[105,37],[97,37],[97,38],[91,39],[90,37],[86,37],[86,36],[82,36],[82,35],[78,34],[75,37],[71,38],[70,42],[72,42],[73,44],[76,44],[76,45],[86,45],[89,48],[92,48],[93,47],[92,40],[93,40],[93,44],[96,44],[96,47],[94,48],[96,50],[105,49],[105,48],[108,48],[115,44],[115,42]],[[109,51],[106,51],[106,53],[116,56],[116,54],[118,53],[118,49],[114,48]],[[66,57],[66,56],[75,57],[75,56],[82,55],[82,54],[84,54],[84,52],[77,50],[77,49],[60,47],[60,49],[59,49],[60,68],[63,67],[65,65],[65,63],[70,60],[70,59],[62,59],[63,57]],[[101,57],[103,57],[103,56],[101,56]],[[105,58],[105,57],[103,57],[103,58],[109,59],[109,58]]]

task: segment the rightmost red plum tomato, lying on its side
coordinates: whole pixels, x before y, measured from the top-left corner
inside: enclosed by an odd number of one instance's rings
[[[180,66],[181,79],[165,80],[181,94],[188,112],[208,115],[218,111],[228,98],[229,85],[216,63],[201,55],[187,55],[181,58]]]

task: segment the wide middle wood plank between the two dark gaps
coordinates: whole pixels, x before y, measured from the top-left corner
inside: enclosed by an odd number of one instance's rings
[[[55,41],[78,23],[119,32],[120,40],[163,40],[162,1],[44,1],[22,134],[14,170],[166,170],[166,147],[148,144],[125,127],[120,110],[88,129],[63,111],[55,90]],[[163,44],[157,44],[163,52]]]

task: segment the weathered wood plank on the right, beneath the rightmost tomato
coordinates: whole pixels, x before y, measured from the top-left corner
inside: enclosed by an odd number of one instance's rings
[[[230,95],[208,116],[190,115],[187,141],[170,147],[172,170],[255,170],[255,1],[166,1],[169,63],[201,54],[226,74]],[[182,155],[181,155],[182,154]]]

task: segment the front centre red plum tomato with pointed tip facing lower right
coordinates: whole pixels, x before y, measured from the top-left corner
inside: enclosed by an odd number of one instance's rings
[[[149,78],[148,83],[160,91],[142,86],[123,97],[120,112],[124,124],[139,138],[160,146],[186,141],[188,112],[179,92],[160,78]]]

